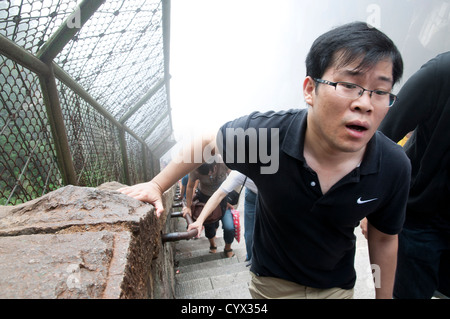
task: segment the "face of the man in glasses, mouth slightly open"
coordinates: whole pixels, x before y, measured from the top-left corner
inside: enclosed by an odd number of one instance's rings
[[[392,90],[393,64],[390,59],[367,70],[357,70],[358,62],[341,68],[331,67],[322,79],[350,82],[369,90]],[[310,105],[307,134],[312,141],[322,143],[328,152],[363,150],[389,111],[387,105],[373,106],[369,92],[351,100],[337,95],[333,86],[319,84],[317,87],[310,77],[304,83],[304,96]]]

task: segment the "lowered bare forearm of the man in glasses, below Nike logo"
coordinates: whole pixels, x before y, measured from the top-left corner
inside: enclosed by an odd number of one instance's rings
[[[395,271],[397,268],[398,235],[380,232],[367,223],[367,239],[369,244],[370,263],[377,267],[374,278],[377,299],[392,299],[394,291]],[[379,273],[377,273],[379,272]]]

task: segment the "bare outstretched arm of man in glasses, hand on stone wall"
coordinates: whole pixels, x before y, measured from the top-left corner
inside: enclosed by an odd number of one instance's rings
[[[177,157],[150,182],[123,187],[118,191],[137,200],[152,204],[155,206],[156,215],[159,217],[164,212],[162,194],[187,173],[195,170],[208,160],[210,156],[217,153],[216,135],[217,132],[208,133],[196,138],[191,144],[184,147]],[[210,149],[210,152],[204,152],[207,147]],[[202,155],[201,161],[195,157],[196,154]]]

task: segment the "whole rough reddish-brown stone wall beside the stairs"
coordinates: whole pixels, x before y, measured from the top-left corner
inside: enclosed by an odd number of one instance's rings
[[[173,298],[166,213],[120,194],[118,183],[66,186],[0,207],[0,298]]]

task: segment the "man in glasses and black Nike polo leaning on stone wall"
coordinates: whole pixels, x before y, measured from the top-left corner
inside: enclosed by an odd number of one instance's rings
[[[354,229],[369,220],[377,298],[391,298],[410,163],[377,132],[403,72],[395,45],[365,23],[319,37],[307,58],[308,108],[254,113],[225,124],[217,148],[227,166],[258,187],[254,298],[351,298]],[[205,149],[215,136],[192,145]],[[255,154],[256,153],[256,154]],[[274,156],[275,155],[275,156]],[[176,160],[151,182],[122,190],[154,203],[199,164]]]

